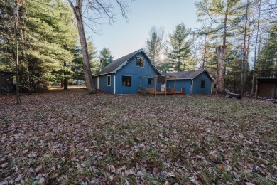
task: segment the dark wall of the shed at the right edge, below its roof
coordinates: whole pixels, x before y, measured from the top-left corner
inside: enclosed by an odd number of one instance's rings
[[[257,94],[259,97],[262,97],[262,98],[277,97],[277,81],[276,82],[260,81]]]

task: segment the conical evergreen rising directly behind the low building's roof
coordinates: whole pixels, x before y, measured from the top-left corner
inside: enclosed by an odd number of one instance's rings
[[[188,57],[190,56],[191,41],[188,39],[190,31],[185,28],[184,23],[176,26],[172,34],[169,35],[169,58],[173,68],[177,71],[187,70]]]

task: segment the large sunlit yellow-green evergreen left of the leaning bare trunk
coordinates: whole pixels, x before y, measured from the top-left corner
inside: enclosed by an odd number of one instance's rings
[[[35,88],[40,81],[70,78],[77,38],[70,7],[62,0],[42,0],[28,1],[26,9],[26,57]]]

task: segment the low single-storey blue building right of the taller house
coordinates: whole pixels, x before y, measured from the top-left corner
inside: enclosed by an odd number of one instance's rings
[[[207,70],[190,70],[184,72],[164,73],[168,76],[167,89],[175,86],[176,91],[185,88],[184,94],[210,94],[212,93],[212,76]]]

